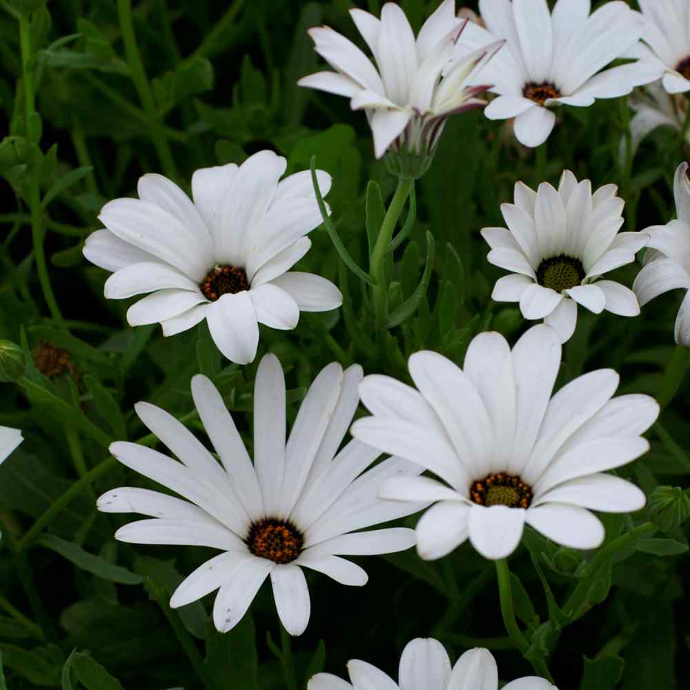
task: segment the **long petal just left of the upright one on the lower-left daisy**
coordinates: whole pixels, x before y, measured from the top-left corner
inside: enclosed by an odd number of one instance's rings
[[[192,377],[192,397],[206,433],[250,517],[264,512],[259,482],[242,437],[218,389],[206,376]],[[256,424],[256,417],[254,420]],[[279,420],[274,420],[278,424]]]

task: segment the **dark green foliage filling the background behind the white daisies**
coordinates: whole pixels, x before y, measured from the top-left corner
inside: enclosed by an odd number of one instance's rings
[[[182,575],[208,551],[116,543],[112,534],[130,518],[95,511],[102,491],[147,485],[107,451],[115,438],[156,443],[145,437],[133,404],[148,400],[177,417],[189,415],[189,380],[198,371],[213,377],[238,426],[249,431],[255,368],[264,351],[276,353],[286,368],[294,415],[306,386],[333,359],[404,378],[407,356],[420,348],[462,362],[469,339],[480,331],[495,329],[514,342],[526,324],[517,308],[491,302],[502,271],[486,262],[479,230],[503,224],[500,203],[511,200],[515,181],[540,181],[535,153],[517,146],[502,122],[481,112],[449,121],[431,170],[417,184],[409,242],[396,251],[391,267],[393,309],[415,294],[428,259],[426,295],[420,292],[413,313],[391,331],[383,353],[371,340],[364,284],[340,262],[324,228],[312,233],[313,248],[302,265],[339,284],[342,310],[303,313],[290,333],[262,329],[255,364],[221,362],[204,328],[169,339],[158,326],[132,329],[124,318],[130,301],[103,298],[106,272],[88,264],[81,248],[99,228],[101,206],[133,195],[144,172],[164,172],[188,189],[196,168],[240,162],[262,148],[284,155],[288,172],[308,168],[315,155],[317,167],[334,177],[328,197],[333,219],[360,265],[367,257],[367,181],[377,181],[387,201],[395,180],[373,159],[362,113],[352,112],[346,99],[295,86],[319,65],[307,28],[327,23],[358,41],[348,1],[141,0],[132,8],[132,26],[145,75],[122,39],[122,12],[129,4],[0,1],[0,118],[6,134],[0,144],[0,338],[20,344],[28,360],[19,384],[0,388],[0,424],[21,428],[26,438],[0,468],[6,686],[193,689],[202,687],[201,668],[208,687],[217,690],[283,688],[293,677],[301,688],[322,667],[344,676],[350,658],[395,676],[400,651],[415,636],[439,638],[453,659],[464,649],[489,647],[506,680],[531,674],[504,636],[493,565],[468,544],[435,563],[420,561],[413,551],[360,559],[370,575],[363,589],[310,575],[311,622],[293,640],[290,655],[266,588],[251,615],[219,635],[208,622],[210,598],[179,614],[166,606]],[[380,3],[366,4],[377,12]],[[418,28],[437,3],[401,4]],[[26,21],[39,113],[29,120],[23,117],[16,16],[18,7],[28,5],[36,6]],[[595,187],[615,182],[627,201],[624,229],[673,217],[672,177],[685,155],[676,132],[657,130],[630,168],[618,157],[629,121],[627,99],[564,108],[559,119],[549,139],[547,179],[555,184],[569,168]],[[39,285],[32,186],[43,203],[39,239],[68,332],[51,317]],[[372,188],[370,217],[376,200]],[[631,285],[636,270],[627,266],[615,275]],[[679,304],[679,295],[665,295],[635,319],[580,310],[578,330],[564,349],[560,384],[611,366],[622,375],[619,393],[672,395],[680,386],[651,432],[651,452],[622,469],[647,493],[658,484],[686,486],[690,473],[689,386],[677,370],[664,378],[669,362],[676,366],[680,357],[673,346]],[[73,375],[48,380],[30,364],[29,353],[41,341],[70,352]],[[201,429],[194,420],[189,424]],[[87,480],[79,480],[86,473]],[[630,520],[604,515],[607,542],[628,531]],[[554,652],[549,666],[561,690],[685,687],[687,529],[658,533],[654,540],[636,542],[638,548],[622,551],[613,569],[599,573],[589,593],[593,609],[564,629],[553,650],[553,629],[539,627],[549,610],[533,559],[562,600],[591,554],[557,549],[532,533],[531,549],[522,546],[511,560],[522,582],[515,585],[518,615],[528,630],[537,630],[533,645]],[[180,640],[186,640],[187,653]]]

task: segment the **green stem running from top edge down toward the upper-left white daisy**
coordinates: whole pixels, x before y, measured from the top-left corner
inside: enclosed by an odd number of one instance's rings
[[[125,55],[132,74],[132,81],[139,93],[141,106],[144,108],[144,112],[146,112],[153,144],[164,172],[170,179],[177,180],[177,167],[172,159],[170,145],[156,110],[153,92],[148,77],[146,77],[144,63],[141,61],[139,46],[137,46],[137,37],[135,36],[134,23],[132,22],[132,0],[117,0],[117,14],[120,21],[122,41],[125,46]]]

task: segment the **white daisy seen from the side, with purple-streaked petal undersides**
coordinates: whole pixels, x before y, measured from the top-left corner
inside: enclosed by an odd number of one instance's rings
[[[446,119],[482,108],[476,96],[486,86],[466,86],[503,41],[467,52],[453,61],[453,50],[467,20],[455,16],[455,0],[444,0],[415,34],[405,13],[386,3],[381,19],[364,10],[351,17],[377,67],[354,43],[328,26],[309,30],[316,52],[335,72],[317,72],[297,83],[351,99],[371,125],[377,158],[389,147],[417,155],[433,153]]]

